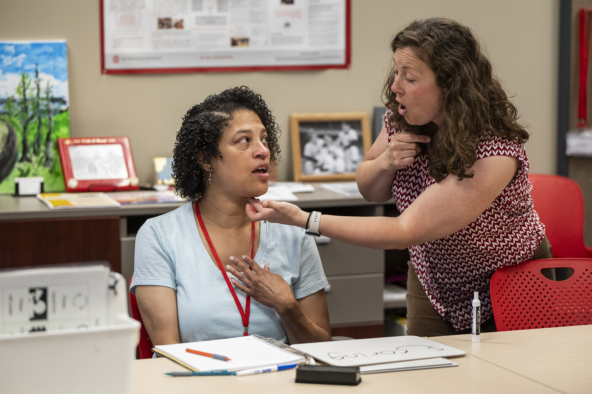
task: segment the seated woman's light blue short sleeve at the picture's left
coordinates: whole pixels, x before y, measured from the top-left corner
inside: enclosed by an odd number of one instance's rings
[[[142,225],[136,235],[134,277],[130,291],[136,286],[166,286],[176,290],[175,264],[167,253],[159,227],[152,219]]]

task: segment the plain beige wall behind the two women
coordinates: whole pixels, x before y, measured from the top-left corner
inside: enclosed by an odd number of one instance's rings
[[[348,70],[101,75],[95,0],[0,0],[0,39],[67,40],[73,137],[128,135],[141,182],[170,156],[181,118],[205,96],[237,85],[262,94],[281,125],[279,179],[292,179],[291,112],[366,111],[381,105],[389,38],[414,18],[446,16],[473,28],[530,124],[533,172],[555,172],[556,0],[352,0]]]

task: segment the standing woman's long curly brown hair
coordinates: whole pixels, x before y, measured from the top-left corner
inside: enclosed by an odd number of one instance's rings
[[[433,122],[410,125],[398,113],[397,95],[391,91],[394,69],[383,92],[385,105],[392,111],[388,119],[391,128],[432,138],[425,151],[430,176],[436,181],[446,174],[459,180],[472,177],[466,170],[477,160],[476,147],[487,130],[520,144],[528,140],[529,134],[517,121],[516,107],[493,75],[471,29],[446,18],[416,20],[392,39],[392,53],[397,48],[413,49],[436,74],[436,83],[444,92],[439,127]]]

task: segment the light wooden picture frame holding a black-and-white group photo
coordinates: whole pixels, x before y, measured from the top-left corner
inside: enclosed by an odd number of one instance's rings
[[[356,179],[371,146],[366,112],[290,115],[294,180]]]

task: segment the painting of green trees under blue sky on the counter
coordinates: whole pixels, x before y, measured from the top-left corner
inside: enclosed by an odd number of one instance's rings
[[[65,190],[57,138],[70,137],[66,41],[0,41],[0,193],[43,176]]]

